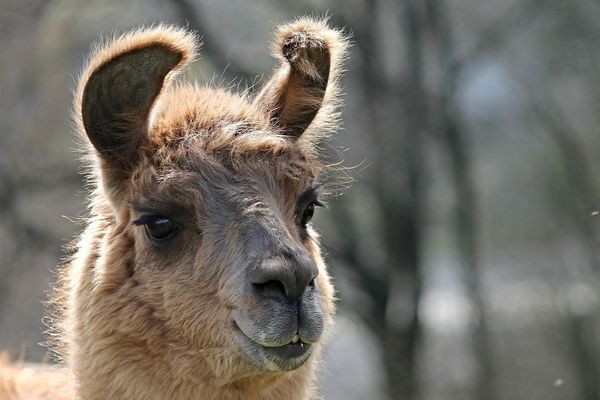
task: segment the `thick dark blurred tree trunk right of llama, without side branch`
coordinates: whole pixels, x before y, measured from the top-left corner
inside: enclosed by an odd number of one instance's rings
[[[424,16],[420,0],[408,0],[398,12],[397,24],[402,32],[406,70],[398,82],[403,89],[390,88],[394,82],[385,81],[381,73],[384,64],[377,53],[376,2],[367,2],[370,18],[357,25],[357,38],[364,38],[363,82],[368,85],[365,101],[370,107],[371,132],[376,133],[374,145],[378,151],[373,160],[374,192],[380,202],[382,238],[388,255],[388,282],[382,321],[386,352],[387,383],[392,398],[406,400],[418,397],[417,355],[421,340],[419,304],[423,291],[422,229],[426,169],[425,136],[428,130],[428,93],[425,88]],[[357,39],[360,41],[361,39]],[[397,109],[400,105],[400,109]],[[394,115],[396,129],[384,129],[378,110]],[[390,165],[393,162],[393,167]],[[390,168],[391,167],[391,168]],[[396,304],[396,306],[394,306]],[[391,307],[402,305],[398,309]]]

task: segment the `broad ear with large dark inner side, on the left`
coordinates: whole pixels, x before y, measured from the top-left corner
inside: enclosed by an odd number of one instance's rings
[[[159,26],[122,36],[92,55],[79,82],[76,117],[103,161],[129,170],[139,160],[152,106],[195,45],[186,31]]]

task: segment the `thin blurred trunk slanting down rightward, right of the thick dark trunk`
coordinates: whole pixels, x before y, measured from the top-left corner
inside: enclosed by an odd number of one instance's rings
[[[447,60],[455,53],[452,27],[447,19],[448,12],[443,0],[426,0],[429,24],[436,43],[437,59],[443,71]],[[436,102],[439,130],[450,160],[450,170],[455,192],[454,231],[460,264],[469,298],[473,304],[476,325],[472,331],[473,351],[479,368],[475,382],[475,398],[492,400],[496,397],[493,356],[488,338],[486,304],[481,290],[479,244],[477,241],[478,205],[475,196],[475,179],[471,155],[468,153],[466,129],[454,104],[459,69],[450,68],[443,75],[441,93]]]

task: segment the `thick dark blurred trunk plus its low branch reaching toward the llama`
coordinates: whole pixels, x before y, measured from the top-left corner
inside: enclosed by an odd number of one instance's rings
[[[357,253],[361,238],[356,230],[348,228],[346,221],[352,220],[350,210],[338,207],[336,224],[344,231],[343,257],[360,277],[361,287],[372,301],[372,308],[363,307],[361,316],[386,349],[383,362],[390,398],[413,400],[418,392],[416,364],[421,337],[418,310],[422,292],[422,177],[428,129],[423,56],[426,27],[419,0],[409,1],[398,12],[395,21],[404,30],[398,40],[405,40],[404,46],[398,45],[406,51],[403,59],[407,60],[407,67],[398,81],[390,82],[381,73],[384,61],[377,51],[379,2],[365,0],[362,6],[360,19],[347,21],[347,25],[352,26],[361,53],[354,68],[359,75],[364,96],[361,107],[375,151],[369,169],[370,186],[384,216],[379,226],[384,265],[365,265]],[[397,90],[399,82],[404,85],[402,91]],[[394,129],[385,127],[390,122]]]

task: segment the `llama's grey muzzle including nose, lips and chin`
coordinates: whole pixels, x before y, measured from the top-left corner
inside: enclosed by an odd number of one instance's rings
[[[250,270],[245,307],[234,328],[246,355],[270,371],[304,364],[323,333],[314,263],[303,251],[271,257]]]

